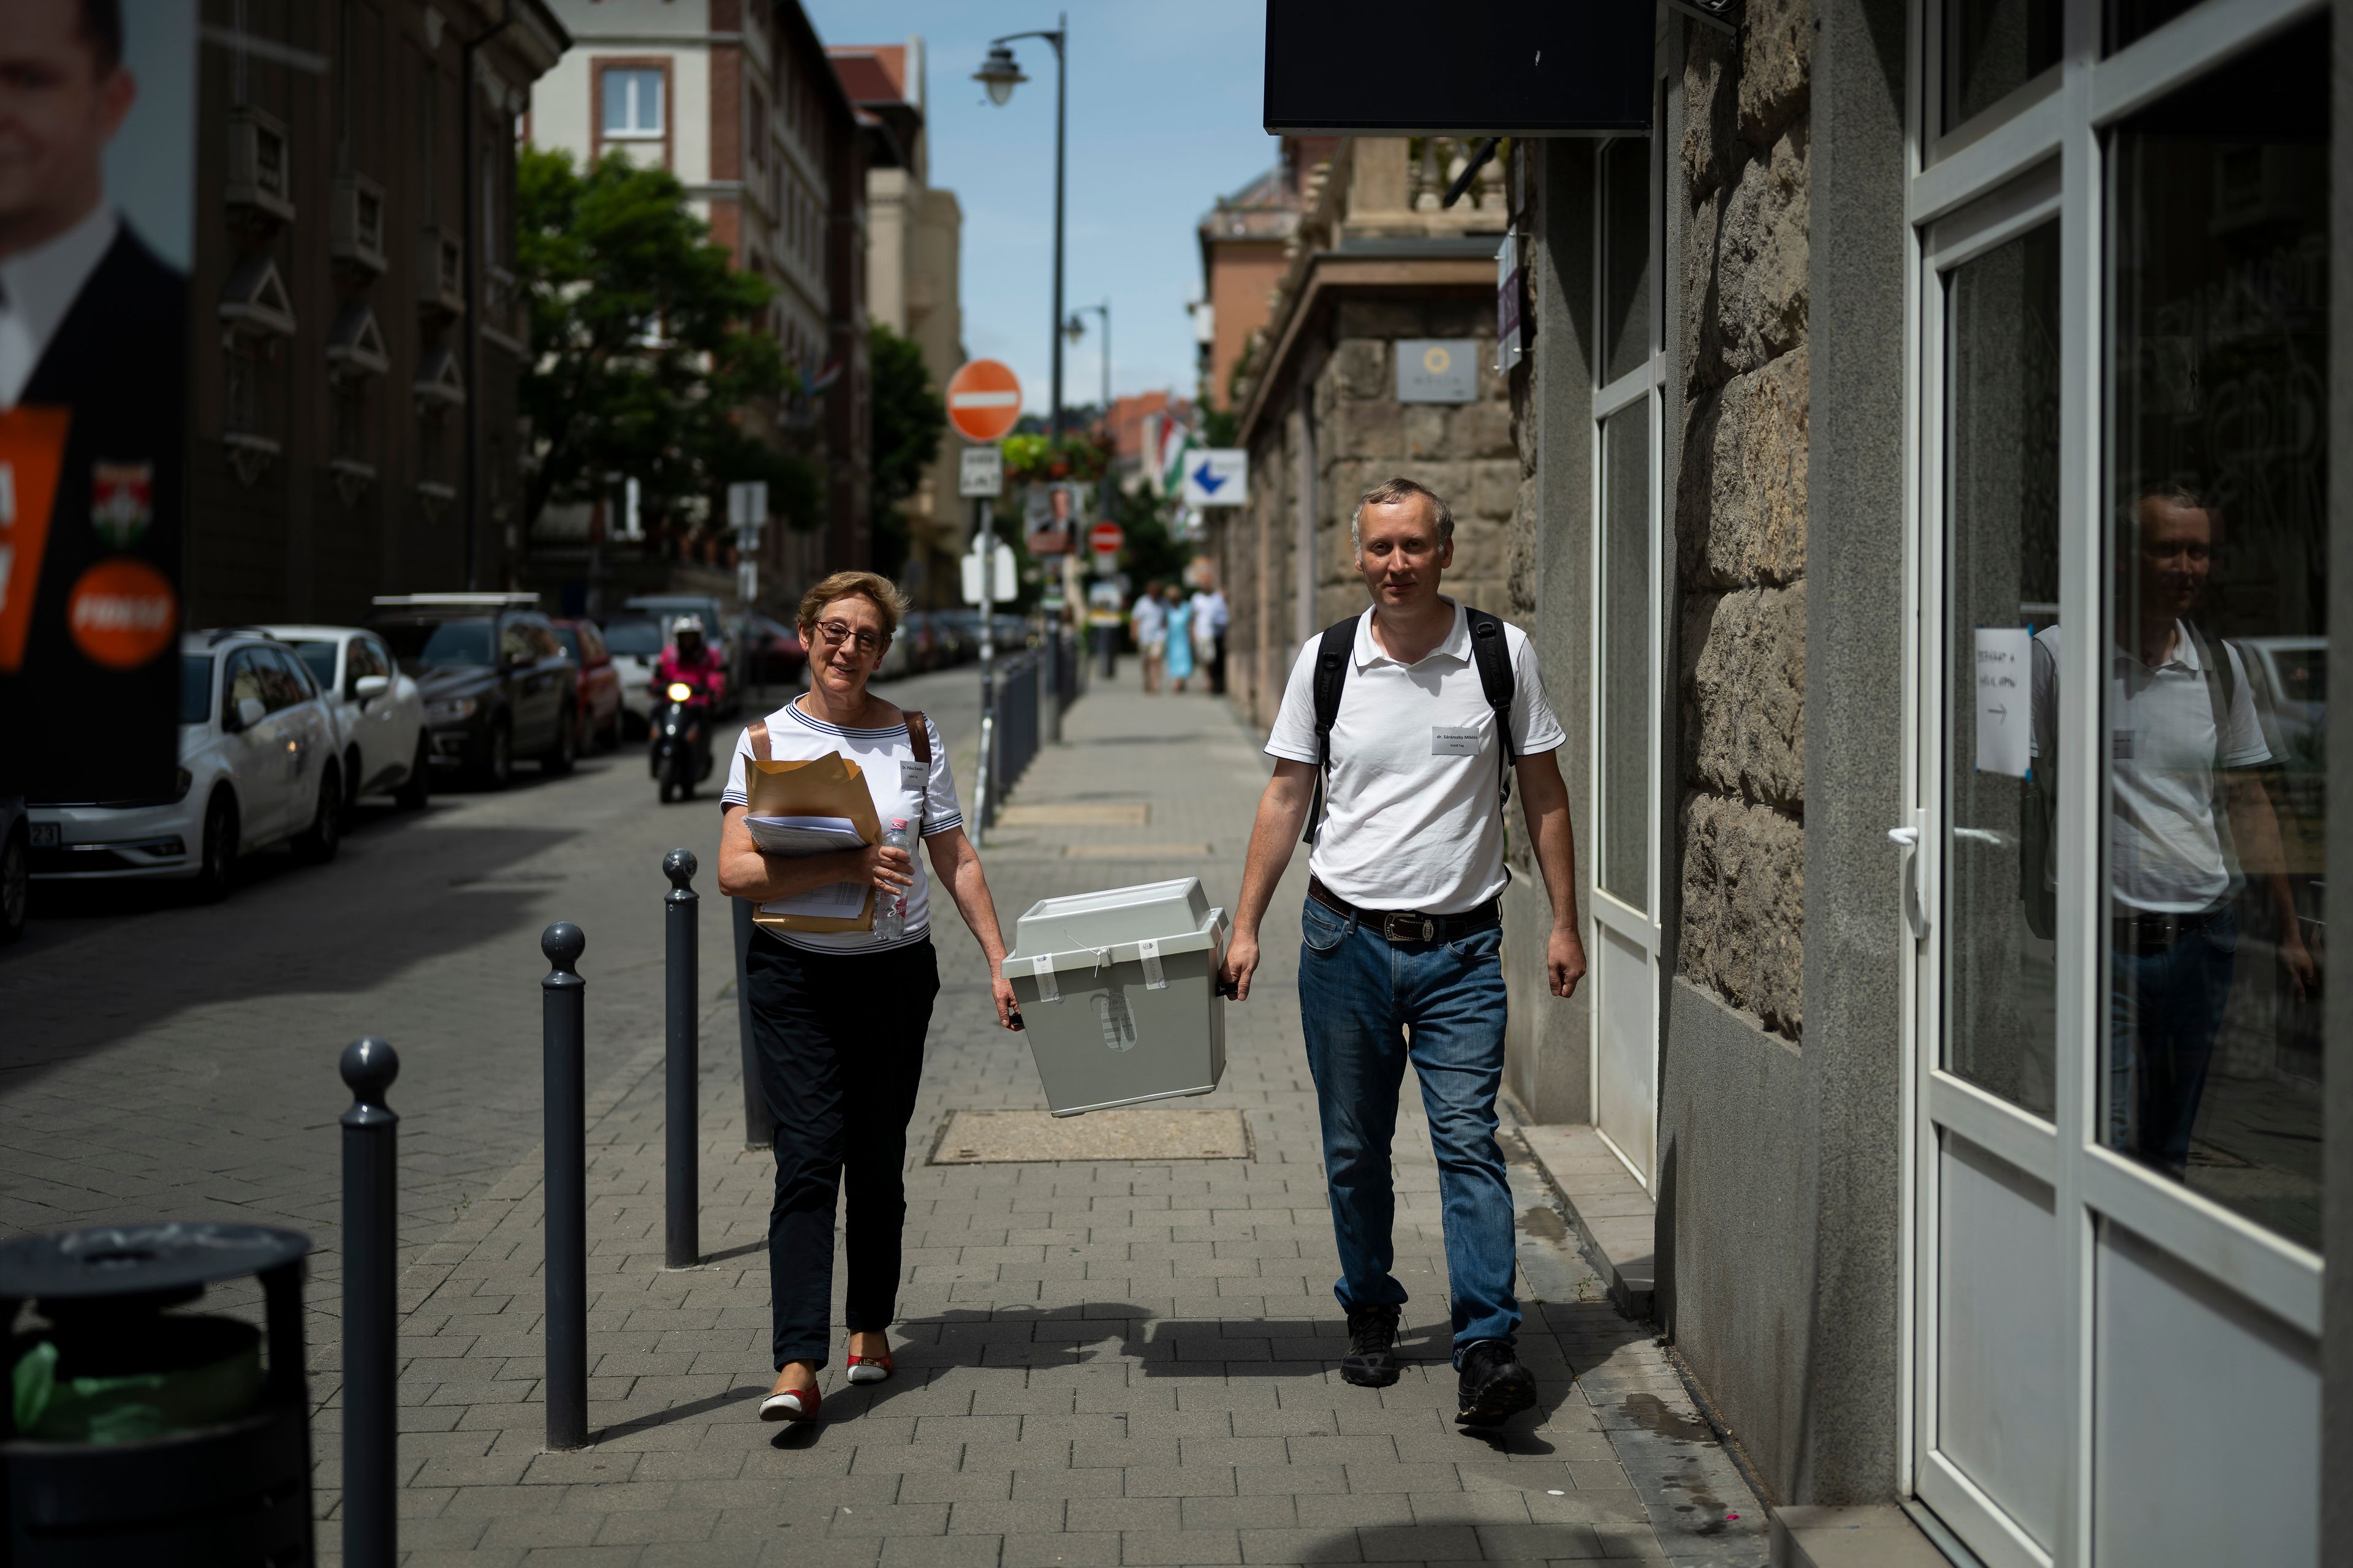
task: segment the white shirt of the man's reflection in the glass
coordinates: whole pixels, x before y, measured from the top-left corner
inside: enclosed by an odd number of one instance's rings
[[[2108,886],[2125,910],[2198,914],[2231,896],[2235,870],[2214,820],[2214,769],[2271,762],[2247,663],[2231,661],[2228,736],[2214,741],[2214,691],[2191,630],[2158,668],[2115,649],[2108,661]],[[2049,757],[2059,726],[2059,628],[2035,635],[2033,752]]]

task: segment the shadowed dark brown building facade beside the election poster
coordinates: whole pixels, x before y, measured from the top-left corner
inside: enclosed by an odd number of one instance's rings
[[[205,21],[188,623],[513,585],[513,148],[562,26],[539,0],[214,0]]]

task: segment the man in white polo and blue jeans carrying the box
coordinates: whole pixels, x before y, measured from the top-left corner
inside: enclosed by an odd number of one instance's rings
[[[1438,592],[1454,515],[1412,480],[1365,491],[1351,522],[1372,609],[1292,665],[1266,741],[1259,799],[1226,950],[1235,999],[1259,966],[1259,922],[1308,827],[1299,1013],[1322,1117],[1325,1180],[1348,1314],[1341,1378],[1398,1380],[1388,1140],[1407,1060],[1438,1154],[1461,1425],[1492,1427],[1537,1401],[1513,1335],[1513,1204],[1494,1143],[1504,1079],[1504,802],[1513,773],[1553,903],[1551,992],[1586,973],[1577,851],[1534,649],[1494,616]],[[1320,788],[1318,788],[1320,785]],[[1315,820],[1311,820],[1311,816]],[[1409,1039],[1407,1039],[1409,1032]]]

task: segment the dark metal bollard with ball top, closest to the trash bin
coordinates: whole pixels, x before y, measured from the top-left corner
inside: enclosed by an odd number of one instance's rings
[[[384,1095],[400,1077],[400,1053],[381,1039],[355,1039],[344,1046],[339,1067],[351,1086],[344,1112],[344,1561],[393,1568],[400,1561],[393,1507],[400,1486],[400,1324],[393,1309],[400,1117]]]

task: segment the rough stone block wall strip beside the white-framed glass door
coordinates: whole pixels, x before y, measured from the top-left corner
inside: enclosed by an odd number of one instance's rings
[[[1737,40],[1692,24],[1668,176],[1685,202],[1668,402],[1682,430],[1678,973],[1788,1039],[1805,957],[1812,49],[1812,0],[1748,0]]]

